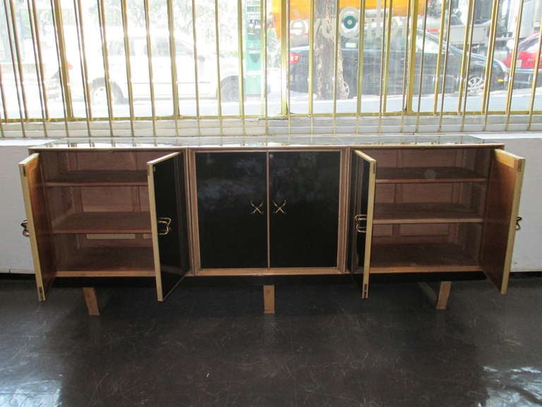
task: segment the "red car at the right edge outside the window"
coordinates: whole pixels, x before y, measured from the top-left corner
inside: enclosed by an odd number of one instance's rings
[[[516,69],[514,73],[514,88],[530,88],[533,83],[534,69],[536,67],[536,54],[540,43],[539,34],[534,33],[520,41],[517,45]],[[512,66],[514,50],[508,54],[507,59],[502,61],[507,68]],[[542,86],[542,57],[538,65],[538,85]]]

